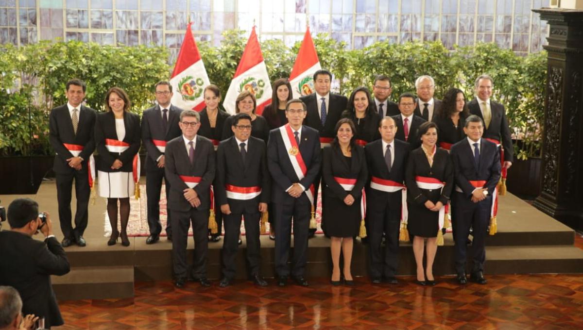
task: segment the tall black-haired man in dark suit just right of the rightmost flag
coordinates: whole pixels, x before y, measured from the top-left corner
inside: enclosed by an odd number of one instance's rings
[[[334,139],[336,123],[342,117],[342,112],[346,110],[348,103],[348,99],[344,95],[330,93],[331,84],[332,73],[328,70],[318,70],[314,73],[315,93],[300,97],[307,109],[303,125],[317,130],[321,143],[330,143]],[[318,205],[317,198],[321,177],[322,173],[318,173],[314,180],[314,209]],[[316,229],[309,230],[309,237],[314,237]]]

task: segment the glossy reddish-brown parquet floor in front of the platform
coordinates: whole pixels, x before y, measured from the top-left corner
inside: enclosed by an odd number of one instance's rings
[[[583,249],[583,239],[576,246]],[[487,267],[487,264],[486,264]],[[583,267],[583,265],[582,265]],[[236,282],[226,289],[189,282],[136,283],[132,299],[61,301],[66,325],[53,329],[582,329],[583,275],[487,276],[458,286],[353,288],[312,279],[310,287],[267,288]]]

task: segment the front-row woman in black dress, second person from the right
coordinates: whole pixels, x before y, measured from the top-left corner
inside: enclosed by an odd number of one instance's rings
[[[433,260],[437,236],[444,226],[444,209],[454,184],[454,165],[447,150],[437,147],[437,125],[425,122],[419,126],[421,147],[409,154],[405,172],[408,191],[409,221],[407,229],[413,237],[413,253],[417,263],[417,283],[435,285]],[[423,269],[423,243],[427,239],[427,269]]]

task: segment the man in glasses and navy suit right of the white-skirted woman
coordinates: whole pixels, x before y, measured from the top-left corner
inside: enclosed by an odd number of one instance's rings
[[[159,81],[154,87],[158,104],[147,109],[142,115],[142,141],[146,147],[146,196],[147,196],[147,224],[150,236],[146,244],[153,244],[160,239],[162,226],[160,224],[160,189],[162,179],[166,183],[166,199],[170,192],[170,182],[164,177],[164,151],[166,143],[180,136],[180,112],[182,109],[170,104],[172,99],[172,85],[168,81]],[[170,210],[166,204],[166,235],[172,240],[170,226]]]

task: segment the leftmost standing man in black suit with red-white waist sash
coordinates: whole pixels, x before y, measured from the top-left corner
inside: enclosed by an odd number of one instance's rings
[[[85,83],[79,79],[69,80],[65,95],[68,102],[51,110],[49,117],[49,141],[57,153],[52,169],[57,179],[57,201],[59,222],[63,233],[64,247],[75,242],[85,246],[83,232],[87,228],[89,205],[88,161],[95,150],[95,111],[81,102],[85,98]],[[93,173],[95,175],[95,173]],[[71,225],[71,189],[75,179],[75,229]]]

